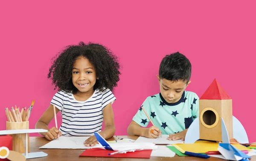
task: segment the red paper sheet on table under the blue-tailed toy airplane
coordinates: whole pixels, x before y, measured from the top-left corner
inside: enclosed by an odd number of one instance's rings
[[[101,148],[92,148],[85,150],[80,156],[91,157],[117,157],[117,158],[150,158],[152,150],[140,150],[135,152],[117,153],[114,155],[108,155],[116,151],[105,150]]]

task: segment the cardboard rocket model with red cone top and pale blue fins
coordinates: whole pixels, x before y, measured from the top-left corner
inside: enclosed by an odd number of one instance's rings
[[[199,117],[189,126],[184,143],[198,139],[230,143],[231,138],[249,142],[244,127],[232,115],[232,99],[214,79],[199,99]]]

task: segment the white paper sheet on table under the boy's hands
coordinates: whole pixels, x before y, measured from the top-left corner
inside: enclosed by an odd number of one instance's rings
[[[182,140],[167,140],[167,138],[169,137],[169,135],[162,135],[162,137],[158,137],[158,138],[145,138],[143,136],[140,136],[139,138],[137,138],[137,140],[135,141],[135,143],[138,142],[150,142],[150,143],[154,143],[154,144],[183,144],[184,141]]]

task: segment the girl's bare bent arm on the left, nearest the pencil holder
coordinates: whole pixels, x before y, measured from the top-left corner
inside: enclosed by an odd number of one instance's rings
[[[59,112],[58,108],[56,109],[56,114]],[[47,108],[47,110],[43,113],[43,115],[41,116],[41,118],[39,118],[39,120],[37,121],[37,123],[35,124],[35,128],[36,129],[47,129],[49,131],[48,125],[50,123],[50,121],[52,120],[52,118],[54,118],[54,110],[53,110],[53,105],[50,104],[50,106]],[[47,132],[41,132],[41,135],[46,135]]]

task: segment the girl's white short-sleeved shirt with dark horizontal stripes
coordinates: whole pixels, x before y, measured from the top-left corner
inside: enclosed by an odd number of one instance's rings
[[[103,112],[116,97],[110,89],[96,89],[86,101],[77,101],[72,93],[59,91],[51,101],[61,112],[61,134],[64,136],[88,136],[102,129]]]

